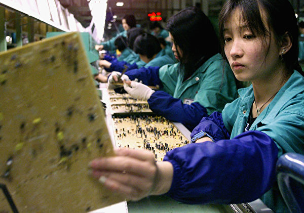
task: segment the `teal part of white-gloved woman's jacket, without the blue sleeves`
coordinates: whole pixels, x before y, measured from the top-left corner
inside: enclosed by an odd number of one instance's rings
[[[184,73],[178,71],[179,66],[180,63],[166,65],[159,70],[163,91],[174,98],[198,102],[211,114],[221,112],[226,103],[238,97],[233,72],[219,53],[209,58],[185,81]]]

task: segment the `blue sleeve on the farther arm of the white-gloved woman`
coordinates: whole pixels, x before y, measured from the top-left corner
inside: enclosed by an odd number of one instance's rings
[[[148,86],[160,86],[163,87],[163,83],[159,76],[160,67],[141,67],[139,69],[132,69],[125,72],[131,80],[137,78],[141,80],[143,84]]]

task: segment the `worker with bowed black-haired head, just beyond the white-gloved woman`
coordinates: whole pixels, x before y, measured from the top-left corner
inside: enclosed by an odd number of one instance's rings
[[[163,66],[166,64],[174,64],[174,61],[171,57],[166,55],[166,51],[161,48],[160,42],[154,35],[144,33],[140,34],[136,37],[133,45],[133,51],[139,55],[141,61],[145,63],[144,67],[156,67]],[[138,68],[137,63],[129,64],[129,63],[118,63],[111,62],[104,63],[101,61],[99,63],[100,66],[104,66],[106,68],[110,68],[111,70],[120,70],[120,66],[126,65],[127,70]]]

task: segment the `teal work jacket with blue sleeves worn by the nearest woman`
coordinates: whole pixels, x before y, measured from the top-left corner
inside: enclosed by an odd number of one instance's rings
[[[304,77],[294,71],[273,101],[245,131],[254,101],[252,86],[222,114],[204,117],[192,137],[207,132],[215,143],[189,144],[169,151],[174,167],[168,194],[188,203],[242,203],[257,198],[275,212],[288,212],[276,183],[277,159],[304,153]],[[194,157],[195,156],[195,157]]]

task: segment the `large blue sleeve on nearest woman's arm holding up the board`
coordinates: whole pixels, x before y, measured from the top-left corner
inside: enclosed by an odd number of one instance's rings
[[[275,183],[277,155],[275,142],[260,131],[175,148],[164,158],[174,168],[167,194],[193,204],[255,200]]]

